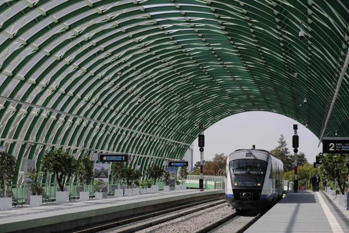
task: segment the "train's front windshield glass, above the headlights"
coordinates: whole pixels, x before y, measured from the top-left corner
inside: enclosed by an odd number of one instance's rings
[[[232,174],[265,174],[267,162],[255,159],[237,159],[230,162]]]

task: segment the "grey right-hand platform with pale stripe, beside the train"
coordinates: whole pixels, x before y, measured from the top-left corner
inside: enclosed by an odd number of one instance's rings
[[[349,212],[325,191],[288,191],[245,233],[349,233]]]

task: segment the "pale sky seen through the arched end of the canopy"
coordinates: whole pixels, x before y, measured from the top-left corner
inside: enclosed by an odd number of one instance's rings
[[[287,147],[293,153],[293,125],[298,124],[299,152],[303,152],[309,163],[315,162],[315,156],[322,152],[322,143],[304,125],[284,115],[270,112],[244,112],[218,121],[204,131],[204,160],[212,160],[215,154],[228,156],[238,149],[256,149],[270,151],[278,146],[281,134],[286,138]],[[193,163],[200,161],[198,139],[193,142]]]

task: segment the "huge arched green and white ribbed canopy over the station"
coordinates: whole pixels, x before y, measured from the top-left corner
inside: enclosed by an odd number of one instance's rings
[[[38,169],[53,147],[162,165],[182,158],[199,123],[246,111],[288,116],[320,138],[348,52],[348,8],[343,0],[2,1],[1,143],[20,171],[23,155]],[[326,137],[349,136],[348,80],[347,68]]]

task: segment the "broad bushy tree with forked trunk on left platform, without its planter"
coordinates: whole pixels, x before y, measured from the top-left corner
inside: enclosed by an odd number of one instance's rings
[[[60,190],[64,191],[66,178],[72,176],[77,169],[77,160],[72,154],[62,149],[46,151],[42,158],[41,170],[43,173],[54,173]]]

